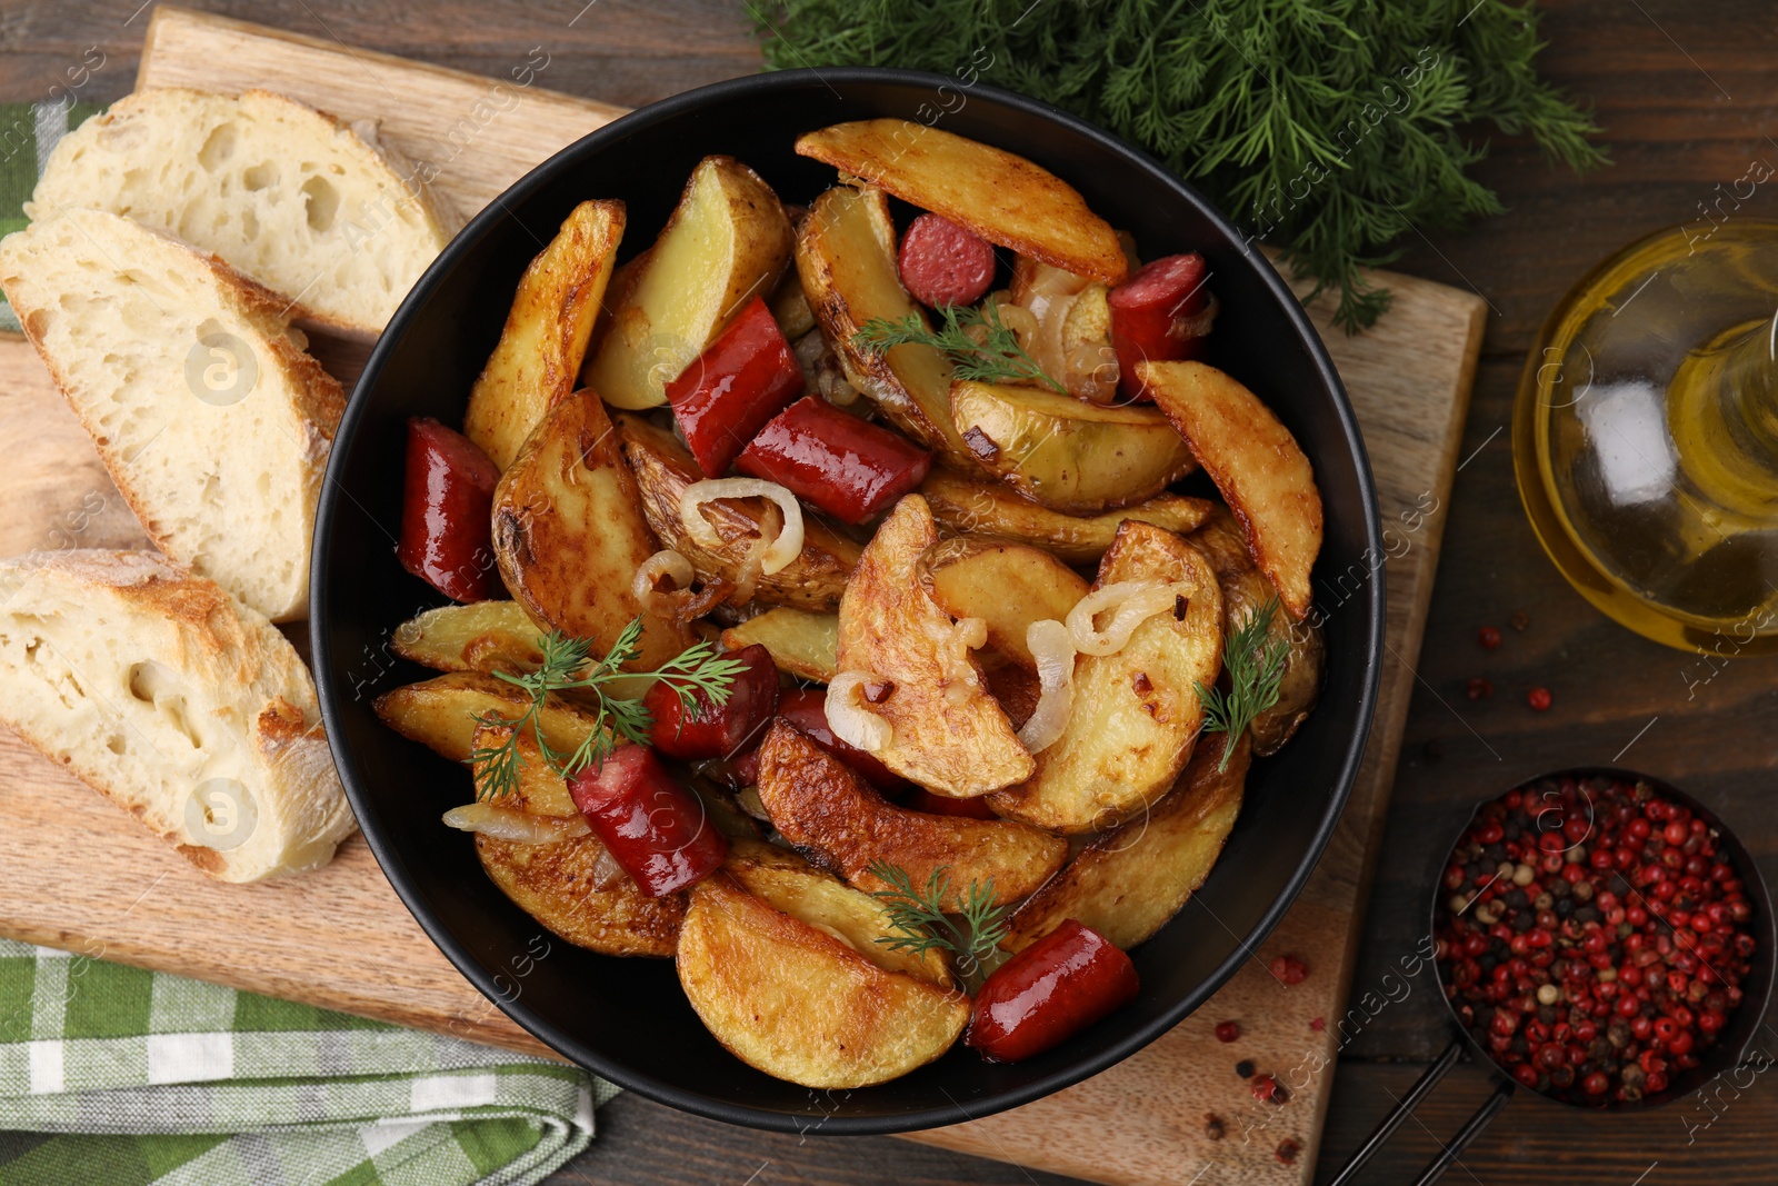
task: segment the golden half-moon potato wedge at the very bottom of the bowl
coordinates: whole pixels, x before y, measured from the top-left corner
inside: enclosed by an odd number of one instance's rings
[[[679,983],[750,1067],[811,1088],[868,1086],[939,1058],[969,1021],[964,992],[885,969],[878,946],[859,948],[717,873],[692,889]]]

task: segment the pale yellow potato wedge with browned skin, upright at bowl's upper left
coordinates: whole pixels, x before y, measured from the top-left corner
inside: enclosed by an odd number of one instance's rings
[[[784,206],[733,156],[706,156],[679,206],[612,309],[581,381],[613,407],[656,407],[667,384],[754,295],[772,295],[789,261]]]

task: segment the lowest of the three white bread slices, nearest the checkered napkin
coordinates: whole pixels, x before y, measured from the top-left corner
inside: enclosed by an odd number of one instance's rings
[[[354,821],[290,642],[148,551],[0,560],[0,720],[224,882],[325,864]]]

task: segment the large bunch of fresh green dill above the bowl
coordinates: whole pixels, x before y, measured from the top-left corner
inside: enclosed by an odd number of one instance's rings
[[[1501,212],[1469,176],[1492,123],[1572,169],[1606,164],[1591,117],[1538,78],[1536,7],[1508,0],[781,0],[749,5],[766,64],[978,78],[1154,153],[1250,238],[1284,251],[1355,333],[1389,308],[1360,267],[1415,228]],[[1191,244],[1152,244],[1188,251]]]

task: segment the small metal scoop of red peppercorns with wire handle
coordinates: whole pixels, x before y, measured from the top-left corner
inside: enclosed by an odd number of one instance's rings
[[[1458,1037],[1334,1177],[1344,1186],[1472,1046],[1494,1095],[1437,1179],[1518,1086],[1597,1111],[1654,1108],[1741,1065],[1778,930],[1748,850],[1707,807],[1630,770],[1561,770],[1476,807],[1431,903]]]

